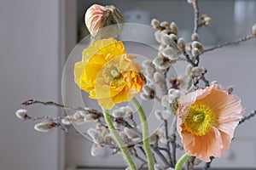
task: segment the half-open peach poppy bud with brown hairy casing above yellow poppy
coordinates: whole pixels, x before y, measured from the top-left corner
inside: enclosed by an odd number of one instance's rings
[[[96,37],[96,39],[118,36],[124,27],[123,23],[125,23],[125,19],[119,13],[118,8],[113,5],[103,7],[98,4],[93,4],[87,9],[84,21],[90,35]],[[111,26],[111,28],[100,31],[100,29],[107,26]]]

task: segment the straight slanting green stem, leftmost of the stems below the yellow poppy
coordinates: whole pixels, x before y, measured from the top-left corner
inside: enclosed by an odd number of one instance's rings
[[[137,170],[137,167],[136,167],[135,163],[131,159],[129,150],[127,149],[127,147],[125,146],[125,143],[123,142],[123,140],[119,136],[119,133],[117,132],[117,130],[113,126],[113,122],[111,120],[111,117],[108,114],[108,111],[104,110],[103,108],[102,108],[102,111],[103,111],[103,116],[105,118],[105,121],[108,124],[108,129],[110,130],[111,133],[113,133],[113,137],[114,137],[115,141],[117,142],[117,144],[119,145],[120,150],[122,151],[123,155],[125,156],[125,161],[127,161],[131,170]]]

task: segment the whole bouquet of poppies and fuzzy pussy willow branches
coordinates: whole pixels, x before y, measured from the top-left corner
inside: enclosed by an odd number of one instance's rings
[[[49,132],[54,127],[68,132],[72,124],[96,122],[95,128],[83,133],[93,141],[91,155],[110,147],[113,153],[122,154],[126,169],[193,169],[202,161],[206,162],[204,169],[210,168],[214,157],[223,156],[230,147],[236,127],[255,116],[256,111],[246,116],[241,99],[232,94],[232,87],[225,89],[207,80],[207,68],[200,65],[201,55],[256,38],[256,24],[246,37],[205,48],[198,29],[208,26],[211,18],[199,15],[197,0],[188,3],[195,12],[191,42],[179,37],[174,22],[154,19],[151,25],[159,52],[153,60],[143,63],[136,63],[137,56],[128,54],[124,42],[115,39],[125,27],[119,10],[114,6],[92,5],[84,17],[90,31],[90,46],[84,48],[82,59],[73,66],[73,83],[89,93],[90,99],[97,100],[102,111],[30,99],[23,105],[55,105],[71,114],[38,117],[20,109],[16,116],[40,121],[35,125],[39,132]],[[186,63],[186,68],[183,74],[174,76],[170,71],[177,62]],[[153,133],[148,131],[151,124],[143,109],[143,103],[150,100],[159,103],[160,109],[152,112],[162,122]],[[177,150],[182,150],[183,156],[177,158]]]

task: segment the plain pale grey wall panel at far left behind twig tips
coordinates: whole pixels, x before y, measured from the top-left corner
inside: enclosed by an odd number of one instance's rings
[[[58,131],[38,133],[15,117],[26,99],[59,99],[59,0],[0,2],[0,169],[56,170]],[[56,116],[30,106],[35,116]]]

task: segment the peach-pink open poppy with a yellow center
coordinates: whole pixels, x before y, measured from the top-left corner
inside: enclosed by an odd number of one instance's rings
[[[177,132],[184,150],[202,161],[222,156],[243,113],[241,99],[218,84],[183,95],[177,110]]]

